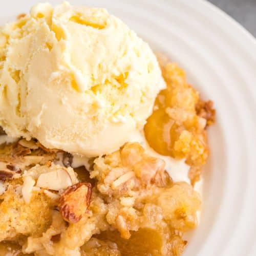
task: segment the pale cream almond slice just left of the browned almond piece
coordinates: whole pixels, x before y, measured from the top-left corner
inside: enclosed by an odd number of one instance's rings
[[[36,186],[46,189],[59,190],[72,185],[72,179],[65,169],[40,174]]]

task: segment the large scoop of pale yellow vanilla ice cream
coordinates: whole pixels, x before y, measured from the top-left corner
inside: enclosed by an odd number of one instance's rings
[[[38,4],[0,28],[0,125],[12,137],[113,152],[164,86],[150,47],[104,9]]]

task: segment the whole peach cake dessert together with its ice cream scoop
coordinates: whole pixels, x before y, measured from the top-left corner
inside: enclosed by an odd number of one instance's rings
[[[104,9],[34,6],[0,28],[0,255],[181,255],[214,121]]]

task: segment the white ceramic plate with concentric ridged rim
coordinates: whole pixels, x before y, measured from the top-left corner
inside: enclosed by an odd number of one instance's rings
[[[27,12],[33,0],[1,3],[0,22]],[[59,1],[50,1],[53,4]],[[202,220],[185,255],[256,255],[256,42],[240,25],[202,0],[80,0],[104,7],[186,71],[212,99]]]

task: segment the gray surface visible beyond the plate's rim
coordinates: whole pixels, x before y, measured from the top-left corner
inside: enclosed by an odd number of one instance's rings
[[[256,0],[208,0],[256,37]]]

